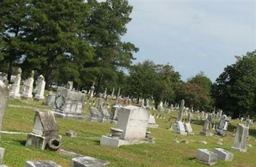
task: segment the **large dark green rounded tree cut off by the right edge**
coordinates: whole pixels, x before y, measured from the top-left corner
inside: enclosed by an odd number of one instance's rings
[[[227,66],[213,86],[215,105],[234,118],[255,116],[256,50],[236,56],[236,63]]]

